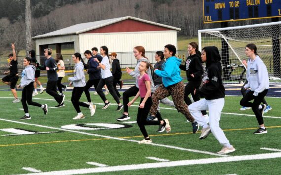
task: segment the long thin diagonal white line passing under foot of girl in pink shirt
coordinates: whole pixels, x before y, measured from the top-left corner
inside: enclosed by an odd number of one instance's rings
[[[109,139],[114,139],[114,140],[122,140],[122,141],[130,141],[130,142],[139,143],[139,141],[137,141],[137,140],[123,139],[123,138],[117,138],[117,137],[112,137],[112,136],[105,136],[105,135],[100,135],[100,134],[86,133],[86,132],[82,132],[82,131],[74,131],[74,130],[68,130],[68,129],[62,129],[62,128],[55,128],[55,127],[50,127],[50,126],[37,125],[37,124],[19,122],[19,121],[14,121],[14,120],[7,120],[7,119],[3,119],[3,118],[0,118],[0,120],[6,121],[6,122],[13,122],[13,123],[24,124],[24,125],[37,126],[37,127],[41,127],[41,128],[48,128],[48,129],[54,129],[54,130],[68,131],[68,132],[72,132],[72,133],[84,134],[84,135],[89,135],[89,136],[97,136],[97,137],[101,137],[101,138],[109,138]],[[181,147],[176,147],[176,146],[169,146],[169,145],[155,144],[155,143],[151,143],[149,145],[166,147],[166,148],[172,148],[172,149],[189,151],[189,152],[195,152],[195,153],[214,155],[214,156],[220,156],[220,157],[228,157],[227,155],[221,155],[221,154],[212,153],[212,152],[208,152],[208,151],[200,151],[200,150],[196,150],[196,149],[186,149],[186,148],[181,148]]]

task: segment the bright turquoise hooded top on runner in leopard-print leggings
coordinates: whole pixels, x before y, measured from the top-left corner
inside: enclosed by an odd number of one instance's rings
[[[162,77],[163,85],[166,88],[182,81],[179,69],[180,64],[181,59],[172,56],[162,64],[162,70],[154,71],[156,75]]]

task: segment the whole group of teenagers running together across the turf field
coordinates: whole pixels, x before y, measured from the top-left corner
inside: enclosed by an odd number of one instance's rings
[[[16,56],[13,44],[12,48],[13,54],[9,55],[11,60],[10,75],[17,76],[18,72],[15,71],[17,63],[15,63]],[[119,60],[116,59],[117,54],[110,54],[114,65],[112,65],[113,71],[111,72],[108,48],[106,46],[100,47],[101,55],[97,54],[97,48],[94,47],[93,50],[95,51],[93,53],[89,50],[86,50],[84,53],[84,56],[88,59],[87,64],[84,63],[80,53],[72,55],[72,60],[75,63],[74,76],[69,77],[68,80],[70,81],[69,86],[74,86],[71,102],[77,112],[77,116],[73,119],[85,118],[80,110],[80,106],[89,108],[90,115],[94,115],[96,105],[92,104],[88,91],[93,85],[105,104],[102,109],[106,109],[111,103],[106,99],[102,88],[104,85],[107,85],[110,94],[118,104],[116,110],[120,111],[123,108],[123,114],[120,118],[117,118],[117,121],[130,119],[128,107],[140,96],[137,124],[144,136],[144,139],[139,142],[140,144],[152,143],[145,125],[159,125],[157,132],[166,130],[169,133],[171,131],[169,120],[162,119],[159,107],[159,102],[161,102],[175,107],[178,112],[182,113],[191,123],[193,133],[199,130],[199,125],[202,126],[199,139],[205,139],[210,133],[213,133],[223,146],[218,154],[228,154],[235,151],[235,148],[230,144],[219,126],[221,111],[224,107],[225,88],[222,84],[221,57],[217,47],[204,47],[201,53],[198,50],[197,43],[191,42],[188,44],[187,49],[189,56],[185,63],[182,64],[182,60],[175,57],[176,47],[168,44],[164,46],[164,52],[158,51],[155,53],[155,61],[157,63],[154,65],[154,68],[148,58],[145,57],[144,47],[134,47],[133,53],[137,59],[137,64],[134,70],[127,67],[126,72],[136,79],[136,83],[123,93],[123,97],[116,89],[116,84],[119,84],[120,88],[123,86],[123,82],[120,81],[122,73],[112,74],[112,72],[116,71],[121,72]],[[259,128],[254,134],[264,134],[267,133],[267,130],[262,115],[267,105],[261,105],[261,102],[269,89],[268,73],[265,64],[257,54],[255,44],[246,45],[245,54],[248,57],[247,63],[243,62],[247,67],[247,82],[242,87],[245,93],[240,101],[240,105],[252,108],[257,118]],[[46,92],[54,97],[58,102],[58,106],[62,106],[65,96],[57,93],[57,63],[51,57],[51,49],[45,49],[44,55],[46,57],[45,63],[40,66],[37,65],[37,67],[40,70],[47,71],[48,82]],[[27,104],[41,107],[44,114],[48,112],[47,104],[38,104],[32,101],[36,65],[31,60],[30,57],[24,58],[23,64],[25,69],[22,71],[21,82],[17,85],[18,88],[23,88],[21,102],[25,115],[21,119],[31,118],[28,113]],[[203,62],[206,65],[205,70],[203,69]],[[85,81],[85,69],[89,74],[87,83]],[[188,83],[185,87],[180,76],[181,70],[186,71]],[[5,79],[7,78],[3,78],[3,81]],[[12,79],[12,76],[10,79]],[[13,92],[12,84],[15,85],[16,83],[10,83]],[[246,92],[247,89],[249,91]],[[86,94],[87,103],[79,101],[83,92]],[[191,94],[194,103],[188,97],[189,94]],[[167,98],[170,95],[173,101]],[[134,98],[129,101],[129,97]],[[203,99],[200,100],[200,97],[203,97]],[[123,100],[124,105],[120,102],[120,99]],[[250,102],[252,100],[253,102]],[[206,110],[209,111],[209,116]]]

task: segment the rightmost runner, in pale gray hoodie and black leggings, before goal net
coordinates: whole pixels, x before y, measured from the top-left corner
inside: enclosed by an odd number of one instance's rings
[[[259,123],[259,128],[253,134],[265,134],[267,133],[267,130],[264,126],[262,115],[266,105],[260,104],[269,89],[268,72],[265,64],[257,54],[257,47],[255,44],[246,45],[245,54],[249,57],[249,59],[247,64],[248,83],[244,86],[244,88],[250,88],[250,91],[248,91],[240,100],[240,105],[251,107],[256,116],[256,119]],[[251,100],[254,101],[250,102]]]

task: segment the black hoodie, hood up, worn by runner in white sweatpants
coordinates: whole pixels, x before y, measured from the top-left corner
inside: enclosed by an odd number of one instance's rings
[[[206,71],[200,89],[196,89],[196,93],[204,97],[206,100],[214,100],[224,98],[225,89],[221,79],[221,63],[220,55],[217,47],[205,47],[206,52]]]

